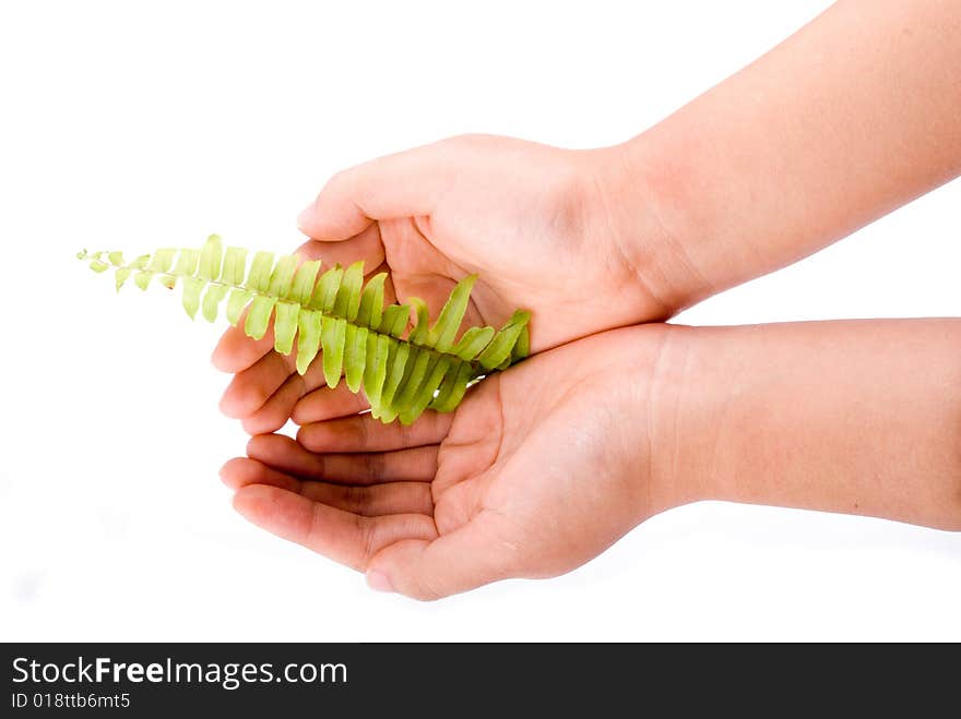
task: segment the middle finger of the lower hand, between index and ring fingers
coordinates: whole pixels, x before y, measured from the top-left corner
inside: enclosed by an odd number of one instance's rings
[[[363,487],[305,481],[247,457],[230,459],[221,469],[221,478],[234,490],[249,484],[270,484],[365,517],[385,514],[434,515],[430,484],[425,482],[384,482]]]

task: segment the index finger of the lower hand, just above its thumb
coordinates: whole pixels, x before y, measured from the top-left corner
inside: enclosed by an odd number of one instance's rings
[[[434,519],[423,514],[364,517],[268,484],[241,487],[234,508],[277,537],[359,571],[389,544],[437,537]]]

